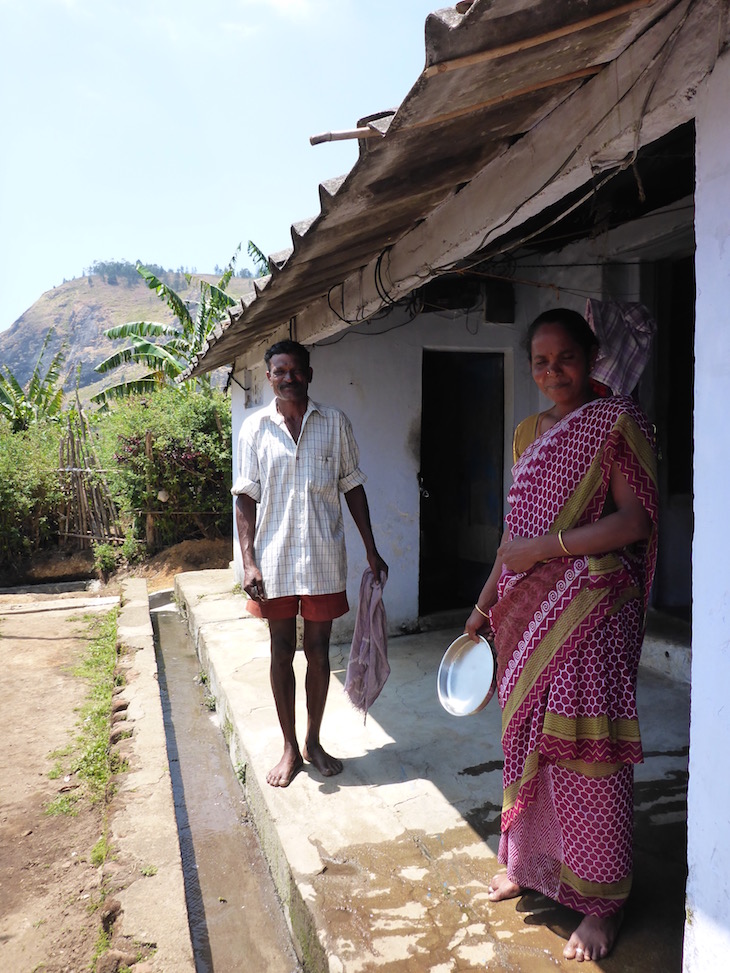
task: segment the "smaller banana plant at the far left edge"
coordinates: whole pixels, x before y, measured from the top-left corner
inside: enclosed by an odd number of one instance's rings
[[[53,328],[43,339],[38,361],[26,388],[20,385],[7,366],[0,375],[0,415],[4,415],[13,432],[21,432],[41,420],[57,421],[63,411],[61,367],[66,357],[65,344],[53,356],[45,375],[41,374],[43,355],[51,340]]]

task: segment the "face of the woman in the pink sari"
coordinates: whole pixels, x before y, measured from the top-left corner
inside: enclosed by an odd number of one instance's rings
[[[531,353],[537,387],[563,414],[591,398],[588,379],[595,355],[589,361],[562,324],[541,325],[532,338]]]

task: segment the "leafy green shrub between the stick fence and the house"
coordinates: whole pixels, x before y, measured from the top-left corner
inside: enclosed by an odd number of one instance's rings
[[[94,421],[99,460],[133,539],[146,537],[148,513],[156,547],[230,534],[231,408],[221,392],[163,388],[112,404]]]

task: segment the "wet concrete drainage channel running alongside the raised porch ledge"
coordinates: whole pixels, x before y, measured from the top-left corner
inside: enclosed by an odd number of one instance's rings
[[[299,973],[200,666],[174,606],[151,612],[197,973]]]

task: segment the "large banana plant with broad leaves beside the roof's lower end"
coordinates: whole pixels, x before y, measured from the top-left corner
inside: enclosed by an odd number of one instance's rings
[[[226,288],[233,277],[236,259],[241,249],[239,244],[228,266],[217,284],[198,280],[199,299],[197,304],[184,301],[176,291],[164,281],[137,262],[137,273],[145,280],[150,290],[156,291],[160,300],[175,315],[174,324],[157,321],[129,321],[127,324],[107,329],[107,338],[129,339],[131,344],[121,351],[110,355],[96,366],[96,371],[104,374],[120,365],[143,364],[150,370],[141,378],[120,382],[93,396],[92,402],[103,407],[112,399],[126,398],[150,392],[165,385],[177,385],[177,379],[188,367],[192,359],[203,350],[209,335],[221,321],[228,309],[237,301]],[[188,284],[192,274],[185,274]],[[155,340],[159,339],[159,340]],[[186,382],[188,388],[210,388],[210,377]]]

